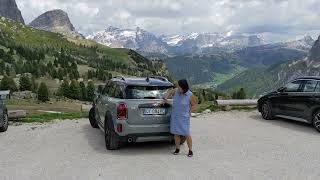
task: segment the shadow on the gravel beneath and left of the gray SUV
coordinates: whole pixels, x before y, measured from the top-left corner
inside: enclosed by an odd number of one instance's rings
[[[84,137],[88,140],[88,145],[101,154],[113,155],[155,155],[171,154],[174,145],[169,142],[145,142],[145,143],[126,143],[119,150],[108,151],[104,142],[104,134],[100,129],[94,129],[91,125],[83,125]]]

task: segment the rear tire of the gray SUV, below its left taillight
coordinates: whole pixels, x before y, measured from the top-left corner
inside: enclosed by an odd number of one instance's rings
[[[108,150],[117,150],[120,148],[120,140],[117,133],[112,128],[109,120],[104,123],[104,140]]]

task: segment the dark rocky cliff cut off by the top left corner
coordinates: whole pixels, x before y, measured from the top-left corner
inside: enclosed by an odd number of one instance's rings
[[[0,0],[0,16],[24,24],[23,17],[15,0]]]

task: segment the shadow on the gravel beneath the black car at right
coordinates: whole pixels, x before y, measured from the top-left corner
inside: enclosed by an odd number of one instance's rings
[[[273,120],[265,120],[260,114],[255,114],[250,116],[251,119],[261,121],[262,123],[268,123],[281,128],[291,129],[295,131],[300,131],[309,134],[319,134],[311,124],[306,122],[294,121],[284,118],[275,118]]]

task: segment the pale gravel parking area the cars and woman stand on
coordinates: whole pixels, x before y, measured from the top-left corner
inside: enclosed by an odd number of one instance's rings
[[[310,125],[265,121],[257,112],[192,119],[193,158],[168,143],[107,151],[86,119],[10,126],[0,134],[1,180],[319,179],[320,134]]]

